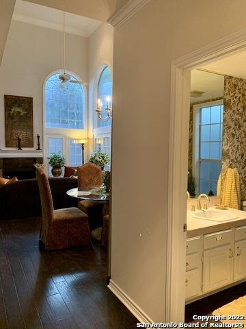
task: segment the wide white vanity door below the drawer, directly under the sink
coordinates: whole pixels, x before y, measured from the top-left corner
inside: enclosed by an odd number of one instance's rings
[[[232,282],[232,260],[232,243],[204,251],[204,293]]]

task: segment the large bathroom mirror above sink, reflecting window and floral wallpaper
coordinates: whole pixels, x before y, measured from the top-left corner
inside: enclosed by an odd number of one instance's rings
[[[217,195],[221,168],[223,171],[230,168],[240,176],[238,201],[246,199],[245,60],[246,52],[191,72],[188,164],[191,194]]]

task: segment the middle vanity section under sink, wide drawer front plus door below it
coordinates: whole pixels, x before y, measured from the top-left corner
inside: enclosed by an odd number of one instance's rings
[[[233,280],[233,230],[204,235],[203,293]]]

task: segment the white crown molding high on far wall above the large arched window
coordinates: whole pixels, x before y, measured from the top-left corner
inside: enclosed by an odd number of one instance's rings
[[[62,24],[51,23],[48,21],[44,21],[42,19],[34,19],[33,17],[29,17],[21,14],[13,14],[12,19],[14,19],[14,21],[38,25],[40,27],[46,27],[48,29],[55,29],[55,31],[63,32]],[[91,34],[89,32],[84,32],[81,29],[76,29],[74,27],[69,27],[69,26],[66,26],[66,33],[75,34],[77,36],[83,36],[85,38],[87,38]]]

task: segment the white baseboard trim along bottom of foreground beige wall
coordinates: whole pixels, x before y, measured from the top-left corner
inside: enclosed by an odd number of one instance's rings
[[[139,320],[139,322],[143,324],[152,324],[154,322],[152,321],[152,319],[150,319],[150,317],[148,317],[148,315],[146,315],[146,313],[143,312],[143,310],[141,310],[139,306],[137,306],[137,304],[135,304],[135,302],[133,302],[133,300],[131,300],[128,295],[126,295],[126,293],[124,293],[122,289],[120,289],[120,287],[115,282],[113,282],[112,279],[110,279],[109,281],[108,288],[116,297],[119,298],[119,300],[124,304],[124,306],[126,306],[128,310],[133,313],[133,315]]]

